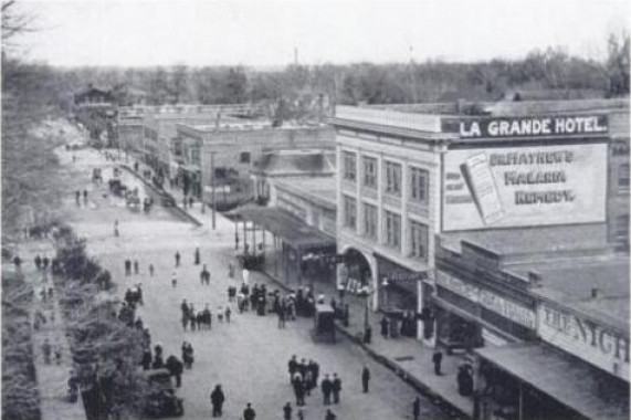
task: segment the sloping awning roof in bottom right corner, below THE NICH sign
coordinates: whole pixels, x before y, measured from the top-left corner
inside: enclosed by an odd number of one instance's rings
[[[590,419],[629,419],[623,382],[560,350],[516,344],[475,350],[502,370]]]

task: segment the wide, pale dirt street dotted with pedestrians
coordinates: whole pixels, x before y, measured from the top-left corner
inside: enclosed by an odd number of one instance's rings
[[[295,399],[288,381],[287,360],[292,355],[317,360],[320,378],[324,374],[337,372],[343,380],[341,402],[332,406],[337,419],[410,419],[414,390],[395,374],[376,364],[364,351],[338,335],[335,345],[316,344],[309,337],[313,319],[287,323],[286,329],[277,329],[274,315],[256,316],[238,314],[233,306],[232,322],[218,324],[217,309],[228,304],[227,287],[236,280],[228,277],[228,261],[234,256],[234,227],[228,219],[218,216],[218,229],[196,228],[180,216],[161,208],[159,203],[149,214],[134,213],[125,208],[119,198],[104,197],[107,179],[112,177],[112,162],[106,167],[103,155],[87,149],[74,151],[78,158],[72,162],[71,151],[60,151],[63,164],[71,171],[67,177],[67,219],[80,235],[88,239],[88,252],[97,258],[118,283],[118,295],[126,287],[143,284],[145,306],[139,316],[149,326],[153,342],[161,343],[165,356],[181,357],[183,340],[194,348],[192,370],[183,375],[179,395],[185,398],[187,419],[211,417],[209,393],[215,384],[221,384],[227,396],[223,418],[240,419],[246,402],[252,402],[256,419],[282,419],[282,407],[292,401],[294,418]],[[92,168],[104,168],[104,183],[90,181]],[[141,183],[123,172],[125,183]],[[88,188],[91,202],[77,207],[76,189]],[[210,218],[210,212],[207,212]],[[120,237],[113,234],[114,220],[119,220]],[[210,286],[199,282],[201,265],[193,265],[193,250],[199,246],[202,263],[211,273]],[[175,270],[173,254],[179,251],[182,265],[177,270],[178,286],[171,287]],[[124,260],[138,259],[140,274],[125,276]],[[148,265],[154,264],[156,274],[149,276]],[[269,282],[252,273],[251,284]],[[275,286],[269,283],[269,290]],[[192,302],[196,309],[206,304],[213,311],[212,330],[183,332],[179,305],[183,298]],[[361,392],[362,364],[371,371],[370,392]],[[445,419],[446,414],[422,400],[423,419]],[[306,399],[305,419],[324,419],[325,407],[317,390]]]

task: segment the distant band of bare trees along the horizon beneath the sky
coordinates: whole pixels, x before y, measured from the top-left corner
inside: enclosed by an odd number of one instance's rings
[[[144,97],[150,105],[231,104],[309,99],[326,94],[338,104],[406,104],[496,101],[518,91],[585,91],[629,94],[629,36],[611,36],[603,62],[568,55],[562,49],[534,51],[522,60],[478,63],[288,65],[277,71],[246,66],[59,70],[71,91],[88,83],[112,88],[120,104]]]

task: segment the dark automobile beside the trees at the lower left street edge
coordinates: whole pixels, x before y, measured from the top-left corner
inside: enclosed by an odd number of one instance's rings
[[[154,419],[183,416],[183,400],[176,395],[170,372],[167,369],[153,369],[145,375],[149,385],[145,414]]]

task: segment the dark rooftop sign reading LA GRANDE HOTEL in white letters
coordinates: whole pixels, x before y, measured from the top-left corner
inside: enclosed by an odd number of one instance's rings
[[[445,119],[443,132],[461,138],[528,138],[547,136],[602,135],[609,132],[607,115],[565,115],[554,117],[504,117]]]

